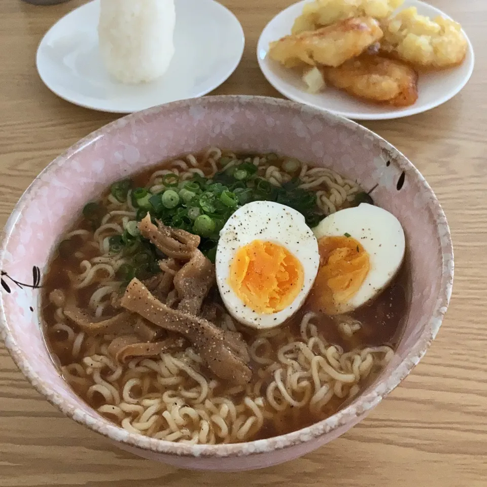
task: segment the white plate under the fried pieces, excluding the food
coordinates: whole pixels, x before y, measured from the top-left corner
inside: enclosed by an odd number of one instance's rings
[[[280,14],[277,14],[262,31],[257,45],[257,59],[262,73],[267,81],[279,92],[288,98],[306,103],[312,107],[329,110],[338,115],[355,120],[385,120],[407,117],[416,113],[426,112],[438,107],[445,101],[453,98],[470,79],[473,71],[474,54],[472,44],[468,40],[468,52],[465,61],[456,68],[428,74],[420,74],[418,82],[418,101],[405,108],[391,108],[387,106],[366,103],[352,96],[327,88],[317,94],[306,92],[306,86],[298,74],[286,69],[281,64],[269,59],[267,51],[269,43],[281,39],[291,33],[291,27],[296,17],[308,0],[291,5]],[[442,15],[448,17],[440,10],[418,0],[405,0],[400,10],[407,7],[416,7],[418,12],[429,17]],[[465,33],[465,32],[464,32]]]

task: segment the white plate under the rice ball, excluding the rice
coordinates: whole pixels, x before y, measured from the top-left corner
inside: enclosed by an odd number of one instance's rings
[[[175,5],[175,54],[160,79],[124,85],[108,75],[98,52],[99,0],[70,12],[47,32],[37,51],[39,76],[61,98],[103,112],[137,112],[212,91],[240,62],[242,26],[214,0],[175,0]]]

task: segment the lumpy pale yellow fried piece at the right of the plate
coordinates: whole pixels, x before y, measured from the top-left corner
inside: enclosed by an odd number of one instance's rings
[[[461,64],[468,44],[459,23],[440,16],[431,20],[410,7],[386,23],[381,48],[397,59],[429,70]]]

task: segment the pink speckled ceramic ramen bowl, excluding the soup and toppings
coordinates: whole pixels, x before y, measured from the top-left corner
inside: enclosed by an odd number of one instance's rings
[[[39,282],[58,235],[109,183],[162,159],[208,146],[278,152],[331,167],[374,190],[401,221],[412,280],[404,336],[387,369],[324,421],[266,440],[184,445],[129,433],[88,407],[54,368],[39,321]],[[218,96],[177,101],[121,118],[55,159],[22,196],[4,229],[2,337],[31,384],[64,414],[136,455],[178,467],[245,470],[294,459],[361,421],[419,362],[435,337],[453,283],[445,215],[424,178],[394,147],[354,122],[291,101]]]

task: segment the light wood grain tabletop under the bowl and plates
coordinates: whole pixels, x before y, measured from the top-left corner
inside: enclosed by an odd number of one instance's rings
[[[39,171],[115,116],[75,107],[37,76],[34,54],[72,0],[35,7],[0,0],[0,225]],[[224,0],[242,23],[242,62],[217,94],[278,96],[259,71],[264,25],[289,0]],[[446,212],[455,245],[454,294],[426,357],[369,418],[315,453],[240,474],[176,470],[123,453],[62,416],[0,345],[0,485],[226,487],[487,485],[487,1],[431,0],[462,23],[476,50],[467,87],[429,113],[367,127],[404,152]]]

